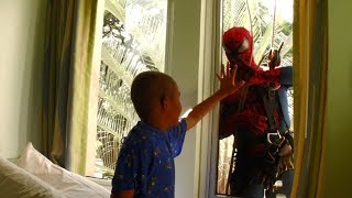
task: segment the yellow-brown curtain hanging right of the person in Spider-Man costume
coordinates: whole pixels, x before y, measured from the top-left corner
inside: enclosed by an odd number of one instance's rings
[[[328,2],[295,0],[295,179],[293,197],[324,190]]]

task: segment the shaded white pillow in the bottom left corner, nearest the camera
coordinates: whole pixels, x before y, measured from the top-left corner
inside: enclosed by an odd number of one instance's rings
[[[56,198],[62,196],[50,185],[0,156],[0,197]]]

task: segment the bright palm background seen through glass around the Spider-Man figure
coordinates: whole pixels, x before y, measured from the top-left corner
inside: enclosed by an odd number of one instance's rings
[[[272,48],[279,48],[282,43],[284,45],[280,50],[280,66],[293,66],[293,0],[223,0],[222,7],[223,33],[233,26],[243,26],[249,30],[254,42],[252,58],[255,63],[260,64],[263,70],[268,69],[270,58],[267,58],[267,55],[270,51]],[[223,64],[228,62],[224,53],[222,51]],[[287,90],[287,107],[289,114],[288,122],[292,123],[292,88]],[[294,130],[293,124],[289,128],[292,131]],[[237,134],[219,140],[218,194],[230,195],[231,193],[229,176],[235,169],[237,140]],[[266,196],[270,197],[271,195],[267,194]]]

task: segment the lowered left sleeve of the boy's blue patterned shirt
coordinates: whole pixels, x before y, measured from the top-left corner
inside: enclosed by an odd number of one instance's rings
[[[139,144],[122,147],[112,178],[111,191],[134,189],[136,194],[145,194],[146,176],[153,156],[152,145],[145,140]]]

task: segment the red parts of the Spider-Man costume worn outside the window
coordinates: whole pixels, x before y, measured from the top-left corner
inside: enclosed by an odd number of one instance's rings
[[[244,40],[249,41],[249,48],[238,53]],[[250,131],[250,138],[255,139],[265,133],[267,128],[266,113],[262,101],[262,96],[257,89],[266,88],[266,82],[271,81],[279,85],[282,68],[264,72],[252,58],[253,38],[244,28],[232,28],[223,34],[223,46],[227,57],[231,64],[238,65],[237,78],[244,80],[249,86],[246,96],[242,96],[243,90],[227,97],[221,101],[220,136],[231,135],[235,131]],[[244,89],[244,88],[242,88]],[[244,100],[243,107],[239,110],[240,100]],[[278,123],[278,113],[275,112]],[[251,156],[263,153],[263,144],[256,144],[246,151]]]

